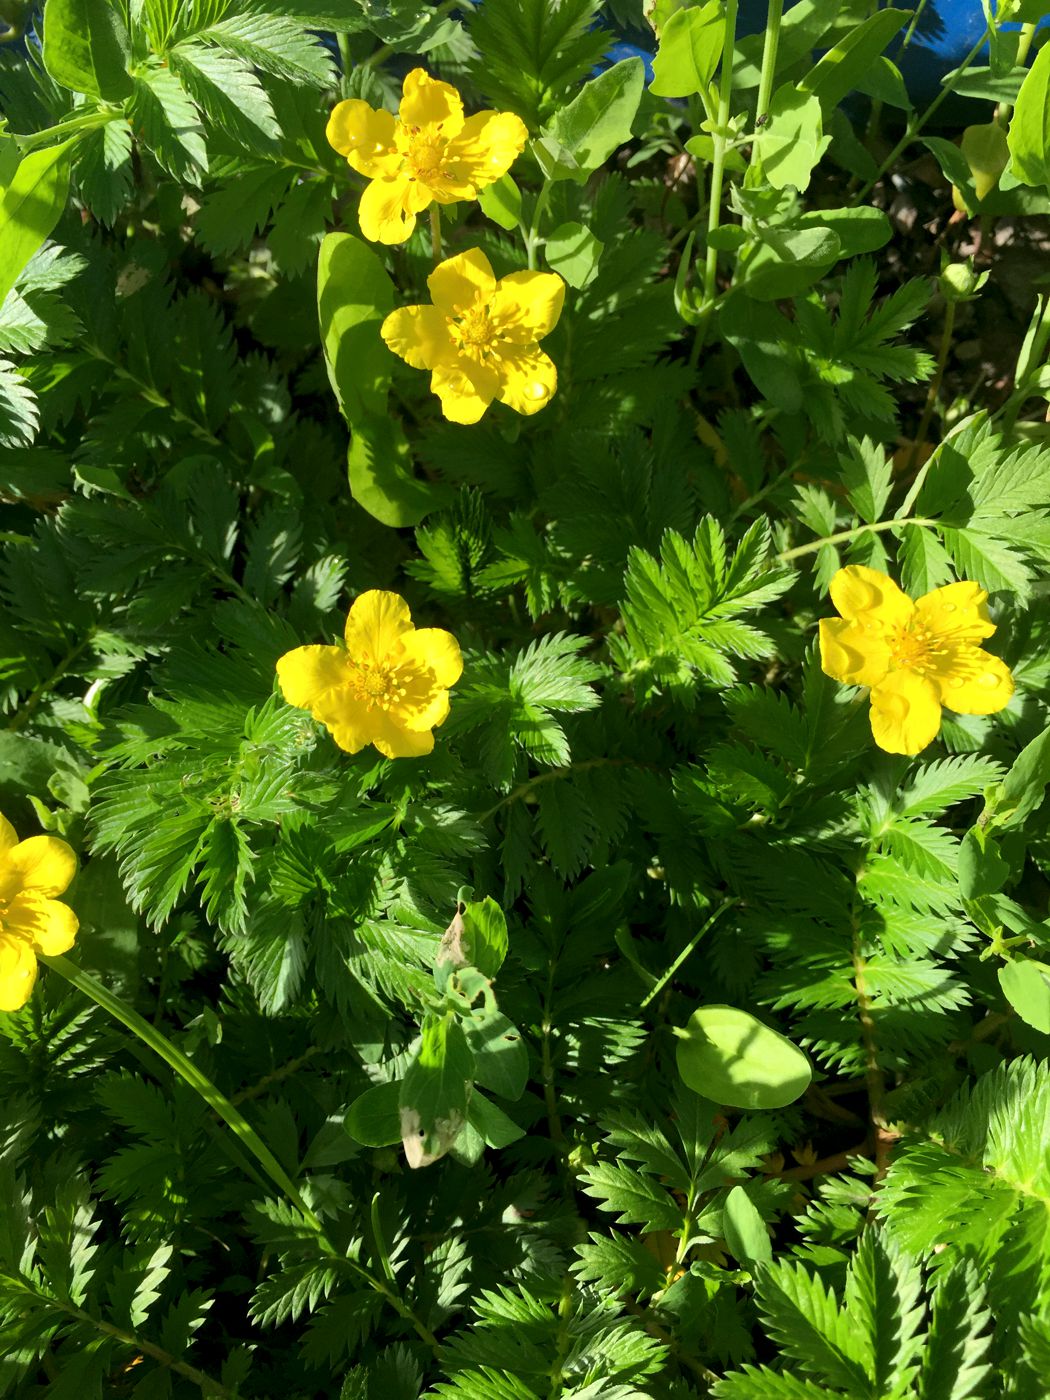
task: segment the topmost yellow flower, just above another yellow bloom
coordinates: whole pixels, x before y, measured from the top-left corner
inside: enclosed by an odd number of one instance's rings
[[[507,174],[528,134],[514,112],[463,116],[456,90],[423,69],[405,78],[396,118],[353,97],[328,122],[329,144],[371,179],[357,217],[364,237],[379,244],[403,244],[434,200],[477,199]]]

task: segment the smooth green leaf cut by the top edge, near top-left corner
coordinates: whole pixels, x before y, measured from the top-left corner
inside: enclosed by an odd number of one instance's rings
[[[125,21],[111,0],[48,0],[43,66],[62,87],[120,102],[134,85],[130,59]]]

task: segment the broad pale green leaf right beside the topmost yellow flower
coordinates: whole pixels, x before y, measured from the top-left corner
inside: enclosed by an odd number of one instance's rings
[[[623,59],[584,84],[533,143],[547,179],[582,183],[630,140],[645,70],[641,59]]]

